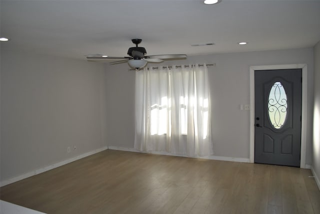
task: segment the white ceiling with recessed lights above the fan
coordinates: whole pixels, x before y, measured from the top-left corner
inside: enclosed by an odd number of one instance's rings
[[[320,0],[1,0],[0,24],[1,48],[83,60],[127,56],[132,38],[148,55],[303,48],[320,40]]]

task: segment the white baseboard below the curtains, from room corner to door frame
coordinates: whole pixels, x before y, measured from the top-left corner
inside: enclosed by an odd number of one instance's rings
[[[216,160],[216,161],[233,161],[233,162],[241,162],[241,163],[249,163],[250,160],[248,158],[232,158],[232,157],[223,157],[223,156],[214,156],[209,155],[205,157],[190,157],[184,155],[175,155],[167,152],[141,152],[134,148],[124,148],[124,147],[117,147],[117,146],[109,146],[110,150],[119,150],[119,151],[127,151],[127,152],[139,152],[139,153],[149,153],[155,155],[168,155],[168,156],[178,156],[178,157],[185,157],[185,158],[200,158],[200,159],[208,159],[208,160]]]

